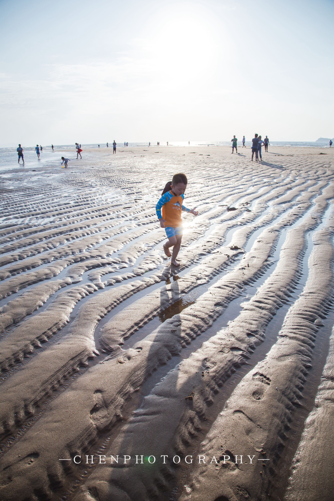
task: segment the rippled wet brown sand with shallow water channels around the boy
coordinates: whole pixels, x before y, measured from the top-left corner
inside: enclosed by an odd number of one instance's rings
[[[332,500],[334,150],[239,152],[0,171],[1,500]]]

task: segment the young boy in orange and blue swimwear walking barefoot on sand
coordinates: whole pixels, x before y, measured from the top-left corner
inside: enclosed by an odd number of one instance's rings
[[[174,174],[172,181],[169,181],[162,191],[162,196],[158,201],[155,210],[160,222],[160,226],[165,228],[168,242],[163,246],[167,258],[172,258],[172,265],[179,266],[176,261],[182,240],[182,210],[198,215],[194,209],[188,209],[183,205],[184,192],[187,187],[187,176],[183,173]],[[161,213],[162,211],[162,213]],[[169,247],[173,247],[173,254]]]

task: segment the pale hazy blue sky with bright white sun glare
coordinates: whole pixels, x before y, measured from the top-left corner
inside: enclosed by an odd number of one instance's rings
[[[0,146],[333,137],[333,0],[0,0]]]

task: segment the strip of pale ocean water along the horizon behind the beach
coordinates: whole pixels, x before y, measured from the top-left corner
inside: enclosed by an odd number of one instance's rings
[[[135,143],[128,143],[129,148],[134,148],[138,146],[148,146],[148,142],[135,142]],[[246,146],[251,146],[251,141],[246,141],[245,145]],[[200,147],[200,146],[231,146],[230,141],[190,141],[190,146],[188,145],[188,141],[169,141],[168,142],[169,146],[179,146],[179,147]],[[239,147],[242,147],[241,144],[241,139],[238,139],[238,145]],[[309,141],[304,141],[304,142],[297,142],[297,141],[270,141],[270,146],[293,146],[293,147],[298,147],[298,146],[303,146],[307,148],[328,148],[329,143],[318,143],[318,142],[309,142]],[[270,148],[269,146],[269,148]],[[37,165],[37,155],[35,153],[35,147],[34,146],[26,146],[22,145],[24,149],[24,158],[25,158],[25,166],[33,166]],[[82,149],[85,152],[85,149],[93,149],[93,148],[98,148],[98,144],[82,144],[81,145]],[[106,148],[106,143],[100,143],[101,148]],[[151,147],[157,147],[156,143],[151,143]],[[160,148],[167,147],[167,142],[162,142],[160,141]],[[109,148],[112,150],[112,143],[109,143]],[[124,148],[124,142],[122,143],[117,143],[117,148]],[[18,154],[17,154],[17,146],[15,148],[0,148],[0,169],[4,170],[6,168],[16,168],[18,167]],[[57,159],[57,162],[59,160],[59,164],[61,163],[61,156],[66,156],[68,155],[71,158],[76,159],[76,149],[74,144],[61,144],[61,145],[54,145],[55,151],[52,152],[51,145],[50,146],[43,146],[43,152],[41,154],[41,159],[39,164],[41,165],[54,165],[55,160]],[[58,152],[58,153],[57,153]],[[45,155],[47,153],[47,155]],[[51,154],[50,154],[51,153]],[[87,152],[88,153],[88,152]],[[85,156],[87,156],[87,153],[85,152]],[[57,156],[58,154],[58,156]],[[65,154],[65,155],[64,155]],[[59,157],[59,158],[58,158]],[[22,161],[21,161],[22,165]]]

